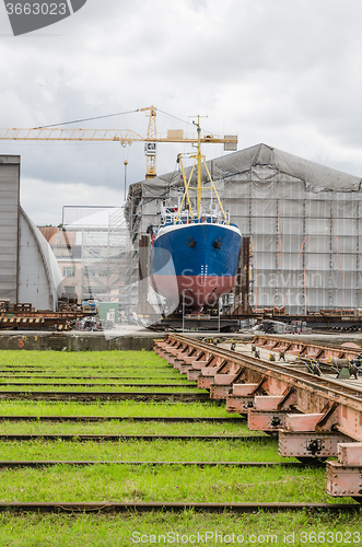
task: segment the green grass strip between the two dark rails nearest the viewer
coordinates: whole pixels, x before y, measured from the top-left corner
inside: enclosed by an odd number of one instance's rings
[[[1,472],[1,502],[330,502],[324,469],[107,465]],[[338,499],[335,502],[350,501]]]

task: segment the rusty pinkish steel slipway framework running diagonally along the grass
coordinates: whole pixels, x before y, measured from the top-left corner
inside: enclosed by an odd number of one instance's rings
[[[285,349],[285,339],[255,337],[254,344],[257,341],[267,349]],[[288,342],[299,353],[313,352],[318,359],[358,353],[350,348]],[[198,387],[208,388],[213,399],[226,398],[227,411],[246,414],[249,429],[280,431],[281,455],[285,453],[287,438],[288,455],[295,457],[328,457],[337,455],[337,451],[339,461],[327,464],[327,491],[362,501],[362,388],[182,335],[155,341],[155,351],[168,362],[174,356],[183,361],[195,353],[198,361],[189,360],[188,377],[196,364]],[[349,447],[352,441],[357,442]]]

